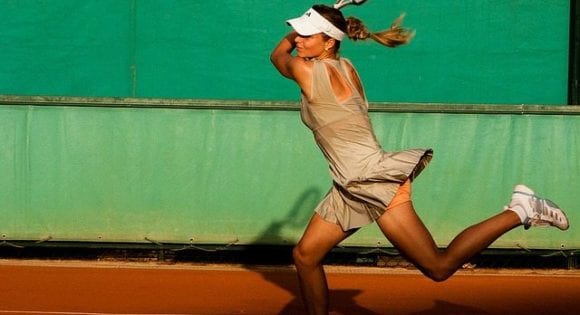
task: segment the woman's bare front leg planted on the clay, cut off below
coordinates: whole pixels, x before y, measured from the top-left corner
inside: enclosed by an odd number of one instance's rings
[[[345,232],[315,213],[302,239],[294,247],[294,264],[308,314],[328,314],[328,285],[322,260],[334,246],[354,232]]]

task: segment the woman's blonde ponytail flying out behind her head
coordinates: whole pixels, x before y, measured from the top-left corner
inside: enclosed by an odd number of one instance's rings
[[[397,47],[409,43],[415,36],[415,31],[401,26],[404,18],[405,14],[401,14],[393,21],[389,29],[372,33],[361,20],[355,17],[348,17],[346,19],[346,33],[354,41],[372,38],[387,47]]]

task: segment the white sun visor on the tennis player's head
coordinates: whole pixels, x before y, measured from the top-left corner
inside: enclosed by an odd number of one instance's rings
[[[336,40],[342,41],[344,39],[343,31],[334,26],[327,19],[325,19],[316,10],[310,8],[301,17],[290,19],[286,21],[294,30],[303,36],[310,36],[318,33],[324,33]]]

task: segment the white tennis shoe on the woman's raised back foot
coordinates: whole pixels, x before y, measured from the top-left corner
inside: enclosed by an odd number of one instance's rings
[[[512,200],[507,208],[522,209],[525,216],[522,218],[524,228],[531,226],[555,226],[560,230],[570,227],[566,214],[554,202],[540,198],[534,191],[525,185],[517,185],[512,194]],[[514,209],[515,208],[515,209]]]

